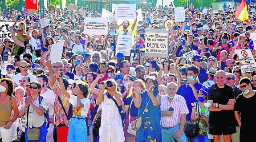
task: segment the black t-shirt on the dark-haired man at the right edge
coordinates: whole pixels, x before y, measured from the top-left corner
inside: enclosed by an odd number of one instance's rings
[[[243,127],[243,130],[251,130],[252,128],[256,127],[256,123],[254,122],[255,117],[252,117],[252,114],[255,111],[255,102],[256,94],[249,98],[246,98],[243,94],[240,94],[236,98],[234,110],[241,112],[241,127]]]

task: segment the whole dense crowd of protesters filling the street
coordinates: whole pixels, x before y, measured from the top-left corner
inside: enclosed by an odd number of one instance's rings
[[[234,18],[237,7],[213,12],[191,4],[185,21],[175,22],[173,4],[143,3],[143,20],[118,25],[114,18],[108,35],[83,33],[85,17],[101,17],[83,7],[45,11],[49,20],[45,28],[39,13],[4,10],[0,22],[14,22],[10,28],[14,43],[9,37],[0,39],[0,65],[9,56],[14,59],[0,72],[0,138],[3,142],[253,141],[256,71],[241,71],[236,49],[248,49],[256,56],[250,39],[256,31],[255,6],[248,4],[248,23]],[[168,58],[145,56],[146,28],[169,31]],[[134,36],[132,49],[138,52],[117,53],[118,35]],[[52,63],[51,47],[60,41],[64,41],[59,47],[62,58]],[[192,50],[196,55],[183,56]],[[192,122],[198,124],[198,134],[189,137],[186,129]]]

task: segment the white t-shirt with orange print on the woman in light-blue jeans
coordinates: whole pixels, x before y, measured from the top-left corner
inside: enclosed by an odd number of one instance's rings
[[[73,106],[77,106],[77,96],[70,94],[69,102]],[[90,107],[90,100],[88,98],[81,99],[81,103],[84,105],[84,107],[81,108],[81,116],[87,117],[87,113]]]

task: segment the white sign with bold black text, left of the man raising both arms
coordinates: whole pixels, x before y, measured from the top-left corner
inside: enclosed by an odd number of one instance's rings
[[[83,33],[93,35],[107,35],[108,31],[108,18],[85,17],[85,26]]]

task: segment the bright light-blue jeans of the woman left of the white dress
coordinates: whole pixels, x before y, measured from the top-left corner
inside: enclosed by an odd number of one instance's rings
[[[73,116],[70,119],[68,142],[87,142],[85,117]]]

